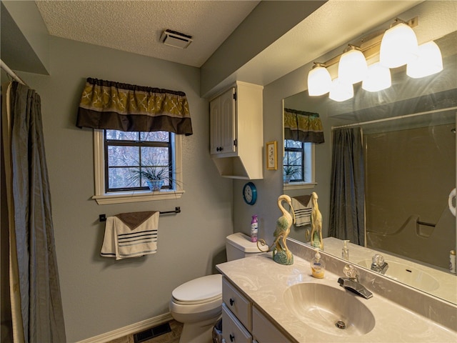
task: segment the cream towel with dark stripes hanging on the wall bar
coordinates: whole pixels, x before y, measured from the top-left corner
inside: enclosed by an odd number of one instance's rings
[[[146,219],[140,219],[139,223],[134,225],[125,220],[126,215],[129,214],[119,214],[115,217],[106,218],[101,256],[126,259],[127,257],[155,254],[157,252],[159,212],[146,214]]]

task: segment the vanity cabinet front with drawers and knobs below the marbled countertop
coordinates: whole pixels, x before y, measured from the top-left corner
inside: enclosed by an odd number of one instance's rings
[[[243,292],[222,278],[222,337],[226,343],[288,343]]]

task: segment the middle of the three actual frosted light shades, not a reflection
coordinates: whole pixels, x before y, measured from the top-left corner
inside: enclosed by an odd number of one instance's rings
[[[356,84],[366,76],[368,66],[363,52],[352,49],[341,55],[338,63],[338,79],[348,84]]]

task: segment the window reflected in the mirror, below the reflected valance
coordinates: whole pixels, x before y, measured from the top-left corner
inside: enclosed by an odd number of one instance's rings
[[[283,179],[288,189],[315,184],[313,143],[284,139]]]

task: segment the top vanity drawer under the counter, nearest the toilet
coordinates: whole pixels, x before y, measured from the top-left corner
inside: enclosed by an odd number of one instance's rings
[[[235,314],[236,318],[248,329],[252,329],[252,303],[246,299],[230,282],[222,278],[222,300]]]

